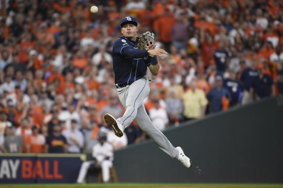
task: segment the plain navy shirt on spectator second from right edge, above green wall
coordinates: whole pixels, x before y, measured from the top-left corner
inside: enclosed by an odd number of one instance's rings
[[[271,94],[271,86],[273,85],[273,80],[271,76],[264,74],[260,79],[259,76],[256,77],[252,86],[254,88],[254,93],[260,98],[269,97]]]

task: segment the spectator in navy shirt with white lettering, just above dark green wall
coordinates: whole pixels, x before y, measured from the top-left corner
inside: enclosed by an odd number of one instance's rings
[[[223,86],[231,93],[231,100],[229,106],[239,104],[242,99],[242,85],[236,80],[236,73],[234,70],[229,70],[229,78],[223,81]]]

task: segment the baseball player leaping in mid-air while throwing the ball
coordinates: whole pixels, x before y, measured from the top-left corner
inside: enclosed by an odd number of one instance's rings
[[[180,160],[190,168],[192,161],[181,147],[173,147],[167,137],[159,131],[149,119],[143,100],[149,95],[149,79],[146,77],[147,67],[153,75],[159,72],[157,56],[167,54],[163,49],[154,49],[154,34],[146,32],[136,37],[138,26],[136,18],[127,16],[121,21],[120,36],[113,45],[113,70],[115,86],[119,99],[126,109],[123,117],[117,120],[110,114],[104,115],[115,135],[123,136],[124,129],[134,120],[165,153]]]

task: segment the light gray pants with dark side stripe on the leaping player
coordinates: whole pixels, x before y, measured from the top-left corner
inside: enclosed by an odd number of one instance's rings
[[[119,99],[126,109],[123,117],[117,119],[126,128],[134,120],[165,153],[177,158],[179,151],[172,146],[167,137],[158,130],[149,119],[144,108],[143,100],[149,95],[149,81],[146,76],[136,80],[131,85],[117,88]]]

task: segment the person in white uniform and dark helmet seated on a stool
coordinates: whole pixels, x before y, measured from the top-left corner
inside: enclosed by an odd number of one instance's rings
[[[92,157],[94,160],[83,162],[80,167],[77,183],[83,183],[85,175],[91,164],[95,164],[97,167],[101,167],[103,182],[109,181],[109,168],[113,166],[113,146],[106,141],[106,134],[104,132],[98,132],[99,143],[93,146]]]

